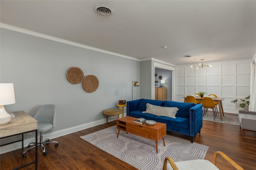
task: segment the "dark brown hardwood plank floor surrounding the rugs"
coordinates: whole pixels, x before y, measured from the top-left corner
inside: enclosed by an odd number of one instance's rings
[[[106,128],[105,125],[52,139],[58,141],[59,146],[46,145],[48,152],[46,156],[43,156],[41,148],[38,147],[38,170],[136,170],[133,166],[80,138],[80,136]],[[168,135],[189,140],[179,134],[168,133]],[[245,170],[256,169],[256,132],[246,132],[246,138],[243,141],[242,130],[239,126],[203,121],[201,133],[196,135],[194,142],[209,146],[206,160],[211,161],[215,151],[222,151]],[[34,160],[34,150],[27,152],[25,158],[22,157],[22,152],[22,149],[18,149],[1,154],[0,169],[11,170]],[[217,166],[221,170],[234,169],[221,157],[217,158]],[[33,169],[34,164],[22,168],[22,170]]]

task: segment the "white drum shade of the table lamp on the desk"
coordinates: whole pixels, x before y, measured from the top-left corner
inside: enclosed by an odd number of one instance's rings
[[[0,105],[15,103],[13,83],[0,83]]]

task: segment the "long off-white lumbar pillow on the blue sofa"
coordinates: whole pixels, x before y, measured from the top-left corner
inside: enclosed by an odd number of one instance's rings
[[[165,116],[165,117],[172,117],[176,118],[175,115],[178,111],[177,107],[162,107],[162,106],[155,106],[152,104],[147,103],[146,111],[142,111],[142,113],[150,113],[152,115],[157,116]]]

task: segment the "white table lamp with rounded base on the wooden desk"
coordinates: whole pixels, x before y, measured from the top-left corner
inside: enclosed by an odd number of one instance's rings
[[[5,125],[11,121],[11,115],[6,112],[4,105],[14,103],[13,83],[0,83],[0,125]]]

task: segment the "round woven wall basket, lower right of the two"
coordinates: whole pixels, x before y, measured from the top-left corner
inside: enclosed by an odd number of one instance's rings
[[[99,80],[96,76],[94,75],[85,76],[83,81],[83,88],[86,92],[88,93],[95,92],[98,87],[99,87]]]

